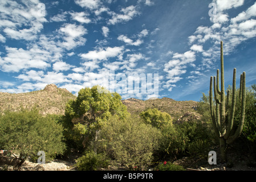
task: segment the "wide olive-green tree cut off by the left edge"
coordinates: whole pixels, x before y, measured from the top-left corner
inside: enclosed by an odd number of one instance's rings
[[[50,160],[66,148],[62,125],[50,115],[43,117],[38,110],[6,111],[0,117],[0,126],[0,147],[18,159],[15,167],[19,170],[28,156],[35,158],[44,151],[46,160]]]

